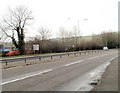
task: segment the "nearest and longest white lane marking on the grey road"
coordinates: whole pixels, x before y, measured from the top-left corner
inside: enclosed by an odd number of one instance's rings
[[[15,81],[19,81],[19,80],[23,80],[23,79],[26,79],[26,78],[29,78],[29,77],[33,77],[33,76],[36,76],[36,75],[44,74],[44,73],[50,72],[52,70],[53,69],[48,69],[48,70],[45,70],[45,71],[42,71],[42,72],[39,72],[39,73],[36,73],[36,74],[24,76],[22,78],[17,78],[17,79],[11,80],[11,81],[6,81],[6,82],[1,83],[1,85],[8,84],[8,83],[15,82]]]

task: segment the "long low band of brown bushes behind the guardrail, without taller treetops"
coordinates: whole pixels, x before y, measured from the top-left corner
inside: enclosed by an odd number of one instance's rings
[[[38,37],[42,37],[41,35]],[[34,44],[39,44],[38,53],[58,53],[82,50],[96,50],[108,47],[109,49],[118,48],[118,32],[102,32],[99,35],[92,35],[86,40],[83,36],[61,37],[56,39],[40,39],[34,37],[26,42],[26,47],[32,49]]]

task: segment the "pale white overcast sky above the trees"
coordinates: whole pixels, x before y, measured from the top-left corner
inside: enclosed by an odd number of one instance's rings
[[[57,37],[59,28],[72,30],[78,26],[82,35],[99,34],[106,30],[118,30],[119,0],[1,0],[0,15],[8,8],[25,5],[32,10],[35,18],[31,27],[27,27],[27,36],[37,35],[43,26]],[[1,17],[0,17],[1,18]],[[83,19],[88,19],[84,21]],[[29,32],[29,33],[28,33]]]

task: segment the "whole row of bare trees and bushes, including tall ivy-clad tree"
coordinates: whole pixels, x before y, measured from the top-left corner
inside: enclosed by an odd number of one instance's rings
[[[32,11],[25,6],[19,6],[10,9],[8,15],[0,23],[0,30],[11,38],[15,48],[19,50],[21,55],[24,54],[25,49],[32,50],[34,44],[39,45],[38,53],[94,50],[102,49],[105,46],[118,48],[119,46],[118,32],[104,31],[99,35],[92,35],[90,40],[85,40],[76,27],[71,31],[61,27],[58,33],[59,38],[56,39],[50,39],[51,31],[41,27],[36,37],[32,37],[25,42],[24,30],[31,20],[33,20]]]

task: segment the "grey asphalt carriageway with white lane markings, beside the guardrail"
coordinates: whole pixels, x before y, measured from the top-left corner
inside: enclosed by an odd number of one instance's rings
[[[60,91],[75,90],[86,73],[118,56],[117,50],[103,51],[78,57],[69,57],[56,62],[34,64],[2,70],[3,91]],[[70,84],[71,86],[68,86]],[[68,86],[68,87],[65,87]]]

